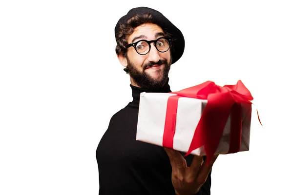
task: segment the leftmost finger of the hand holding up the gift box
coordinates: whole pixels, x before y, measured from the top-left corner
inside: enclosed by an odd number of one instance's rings
[[[169,148],[164,148],[164,149],[167,155],[169,156],[172,170],[181,170],[187,167],[186,160],[180,154],[180,152],[169,149]]]

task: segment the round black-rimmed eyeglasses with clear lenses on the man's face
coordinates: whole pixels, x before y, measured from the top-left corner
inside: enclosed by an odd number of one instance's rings
[[[140,55],[146,55],[150,50],[150,43],[155,43],[154,46],[159,52],[167,52],[170,48],[170,42],[172,39],[159,38],[157,40],[139,40],[135,43],[130,43],[126,45],[126,49],[133,46],[135,51]]]

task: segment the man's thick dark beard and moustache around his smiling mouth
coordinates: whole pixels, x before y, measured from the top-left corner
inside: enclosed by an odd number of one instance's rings
[[[170,65],[172,59],[170,59],[169,64],[166,59],[160,59],[158,62],[149,62],[143,66],[143,71],[140,72],[135,65],[126,57],[127,60],[127,68],[130,77],[133,79],[135,84],[144,89],[154,89],[154,88],[162,88],[166,84],[168,80],[168,73],[170,70]],[[163,65],[163,75],[161,78],[155,79],[146,73],[146,68],[153,66],[154,64]]]

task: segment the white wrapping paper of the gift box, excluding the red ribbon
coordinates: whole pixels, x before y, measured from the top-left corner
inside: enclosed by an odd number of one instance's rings
[[[176,94],[141,93],[138,113],[136,140],[163,145],[163,134],[167,110],[167,100]],[[208,100],[179,98],[176,116],[173,149],[187,152],[196,126]],[[251,127],[251,104],[242,103],[242,137],[240,152],[249,150]],[[212,122],[212,121],[211,121]],[[230,146],[230,116],[215,154],[227,154]],[[193,155],[205,156],[204,146],[193,150]]]

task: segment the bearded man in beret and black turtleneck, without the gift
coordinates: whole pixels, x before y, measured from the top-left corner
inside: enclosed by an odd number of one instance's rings
[[[160,12],[131,9],[115,27],[116,53],[130,76],[133,101],[117,112],[102,137],[96,158],[100,195],[209,195],[210,171],[201,156],[136,141],[141,92],[171,92],[168,72],[181,58],[181,31]],[[151,122],[151,121],[150,121]]]

